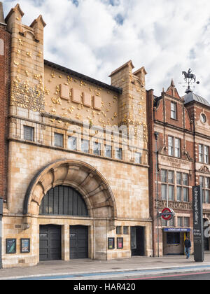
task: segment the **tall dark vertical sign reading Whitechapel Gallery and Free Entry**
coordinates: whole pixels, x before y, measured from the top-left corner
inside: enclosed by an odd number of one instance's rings
[[[204,229],[203,229],[203,203],[201,186],[193,187],[193,238],[194,259],[204,261]]]

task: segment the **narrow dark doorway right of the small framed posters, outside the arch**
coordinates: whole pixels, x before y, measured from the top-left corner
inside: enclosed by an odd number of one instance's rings
[[[144,256],[144,227],[131,227],[132,256]]]

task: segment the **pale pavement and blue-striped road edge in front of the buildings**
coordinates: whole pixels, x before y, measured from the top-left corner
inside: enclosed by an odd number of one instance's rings
[[[204,262],[195,262],[193,255],[189,260],[184,255],[168,255],[161,258],[132,257],[117,260],[56,260],[40,262],[35,267],[0,269],[0,280],[119,280],[125,276],[146,277],[155,274],[189,272],[210,272],[210,254],[205,254]]]

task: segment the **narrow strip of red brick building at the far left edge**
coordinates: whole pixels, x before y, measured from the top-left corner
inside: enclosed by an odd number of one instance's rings
[[[8,94],[10,89],[10,33],[6,29],[0,2],[0,197],[6,198],[8,158]]]

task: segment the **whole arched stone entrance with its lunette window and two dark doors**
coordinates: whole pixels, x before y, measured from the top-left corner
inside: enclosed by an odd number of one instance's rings
[[[107,231],[116,228],[116,202],[94,167],[62,160],[43,168],[29,185],[24,213],[25,223],[37,228],[38,260],[106,259]]]

